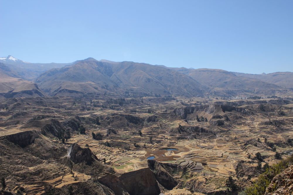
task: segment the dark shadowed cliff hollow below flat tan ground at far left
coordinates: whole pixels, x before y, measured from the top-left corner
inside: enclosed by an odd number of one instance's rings
[[[16,134],[6,135],[5,138],[21,147],[32,144],[36,138],[40,137],[41,131],[24,131]]]

